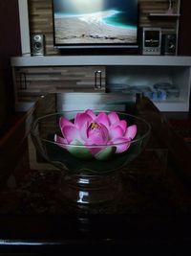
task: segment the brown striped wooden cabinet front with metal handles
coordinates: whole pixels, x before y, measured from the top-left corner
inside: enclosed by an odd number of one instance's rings
[[[101,88],[95,88],[95,72],[101,71]],[[25,82],[26,78],[26,82]],[[34,101],[48,92],[105,91],[105,67],[26,67],[16,70],[19,101]]]

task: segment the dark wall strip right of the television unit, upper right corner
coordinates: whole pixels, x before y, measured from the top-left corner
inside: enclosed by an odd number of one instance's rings
[[[191,1],[180,1],[179,55],[191,56]]]

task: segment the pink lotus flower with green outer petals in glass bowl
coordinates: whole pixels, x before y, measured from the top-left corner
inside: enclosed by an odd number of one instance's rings
[[[127,126],[116,112],[96,113],[87,109],[77,113],[74,122],[60,117],[62,136],[54,135],[54,142],[79,158],[108,158],[112,153],[127,151],[137,134],[137,126]]]

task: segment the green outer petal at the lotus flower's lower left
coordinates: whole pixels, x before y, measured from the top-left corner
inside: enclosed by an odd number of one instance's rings
[[[67,151],[72,153],[75,157],[81,158],[81,159],[90,159],[93,158],[93,155],[88,149],[81,144],[80,141],[74,139],[72,141],[71,146],[67,146]],[[76,145],[76,147],[74,146]],[[82,147],[77,147],[77,146],[82,146]]]

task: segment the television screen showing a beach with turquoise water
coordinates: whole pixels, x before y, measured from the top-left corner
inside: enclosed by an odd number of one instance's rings
[[[138,47],[138,0],[53,0],[57,48]]]

